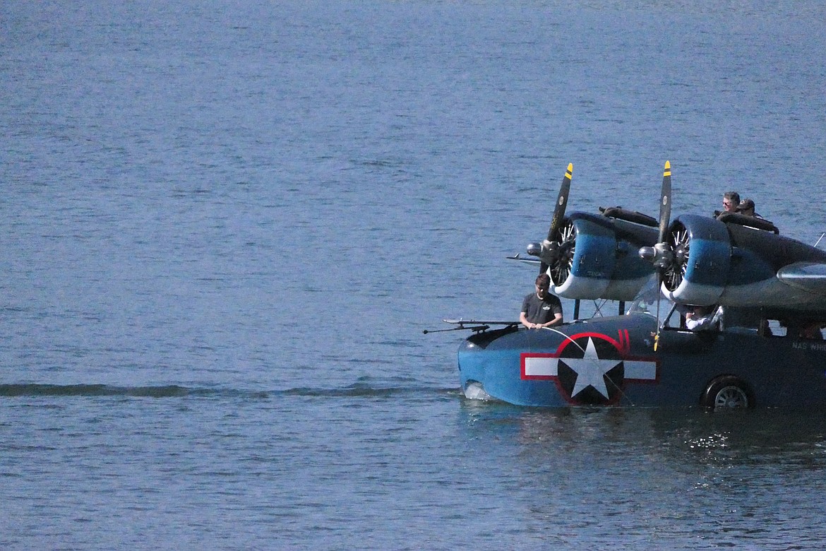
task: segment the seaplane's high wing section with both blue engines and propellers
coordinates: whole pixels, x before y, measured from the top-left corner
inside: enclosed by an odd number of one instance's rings
[[[563,188],[569,178],[570,167]],[[527,251],[541,261],[540,270],[548,268],[553,293],[629,301],[657,274],[663,294],[681,304],[826,316],[826,251],[742,213],[671,221],[670,163],[662,178],[658,221],[620,207],[601,209],[600,215],[573,212],[563,221],[559,209],[554,211],[548,239]]]

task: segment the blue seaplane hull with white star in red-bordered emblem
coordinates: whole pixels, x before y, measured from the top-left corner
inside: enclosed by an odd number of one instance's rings
[[[468,397],[519,406],[826,407],[826,342],[757,330],[664,329],[634,313],[472,335],[458,351]]]

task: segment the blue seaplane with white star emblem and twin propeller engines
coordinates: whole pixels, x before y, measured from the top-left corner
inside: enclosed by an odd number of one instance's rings
[[[733,212],[673,221],[672,170],[658,219],[620,207],[566,216],[572,164],[546,239],[528,246],[550,290],[619,303],[618,315],[542,329],[444,320],[472,399],[518,406],[826,407],[826,251]],[[626,307],[627,306],[627,307]],[[691,311],[713,311],[702,329]],[[691,327],[691,328],[690,328]],[[432,332],[432,331],[425,331]]]

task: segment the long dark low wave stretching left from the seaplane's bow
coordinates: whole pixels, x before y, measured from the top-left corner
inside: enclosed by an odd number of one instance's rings
[[[452,394],[455,388],[438,387],[378,387],[356,383],[343,388],[297,387],[276,391],[252,391],[230,388],[182,387],[162,385],[150,387],[115,387],[103,384],[0,384],[0,397],[394,397],[415,394]]]

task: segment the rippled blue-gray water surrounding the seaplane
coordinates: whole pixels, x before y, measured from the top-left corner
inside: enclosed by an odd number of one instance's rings
[[[516,316],[568,162],[814,243],[824,51],[821,2],[2,2],[0,546],[821,549],[822,412],[475,403],[422,330]]]

